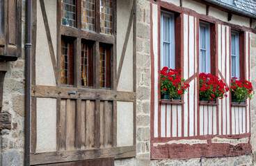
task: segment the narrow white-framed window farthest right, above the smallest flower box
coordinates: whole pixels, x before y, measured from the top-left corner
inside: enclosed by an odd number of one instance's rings
[[[239,71],[239,33],[231,32],[231,76],[240,77]]]

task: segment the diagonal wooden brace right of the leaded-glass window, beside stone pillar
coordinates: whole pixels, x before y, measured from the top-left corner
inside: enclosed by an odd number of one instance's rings
[[[118,83],[120,80],[122,64],[124,63],[124,59],[125,59],[125,52],[126,52],[126,48],[127,48],[127,44],[128,44],[129,35],[131,32],[131,24],[132,24],[133,18],[134,18],[134,4],[131,8],[131,15],[129,18],[129,23],[128,23],[127,32],[126,32],[126,36],[125,36],[125,42],[124,42],[124,46],[122,47],[122,54],[121,54],[121,58],[120,58],[119,66],[118,66],[118,75],[117,75],[117,79],[116,79],[116,87],[118,87]],[[136,23],[134,23],[134,24],[136,24]]]

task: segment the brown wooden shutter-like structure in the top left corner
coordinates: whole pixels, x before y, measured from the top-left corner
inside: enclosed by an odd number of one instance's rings
[[[22,1],[1,0],[0,60],[13,61],[21,56]]]

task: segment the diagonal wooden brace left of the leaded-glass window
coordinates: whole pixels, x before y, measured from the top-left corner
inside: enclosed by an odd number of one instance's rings
[[[47,42],[49,45],[49,51],[50,51],[50,55],[51,55],[51,62],[52,62],[52,66],[54,68],[54,75],[55,75],[55,80],[56,80],[56,84],[58,83],[57,81],[57,64],[56,64],[56,59],[55,59],[55,55],[54,55],[54,46],[51,42],[51,32],[50,32],[50,28],[49,28],[49,24],[48,24],[48,19],[47,19],[47,14],[46,14],[46,10],[45,10],[45,2],[44,0],[40,0],[40,6],[41,6],[41,10],[42,10],[42,18],[44,19],[44,23],[45,23],[45,31],[46,31],[46,35],[47,35]]]

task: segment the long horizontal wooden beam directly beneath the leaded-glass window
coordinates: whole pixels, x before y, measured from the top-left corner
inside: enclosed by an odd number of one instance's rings
[[[113,91],[106,89],[82,89],[65,86],[39,86],[31,87],[31,95],[36,98],[66,98],[81,100],[111,100],[111,101],[136,101],[135,92]]]

